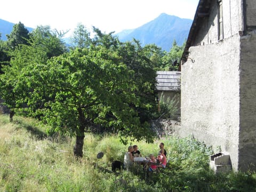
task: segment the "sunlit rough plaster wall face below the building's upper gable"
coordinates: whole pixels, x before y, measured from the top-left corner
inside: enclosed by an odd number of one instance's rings
[[[239,36],[193,46],[181,73],[182,137],[220,146],[238,167]],[[192,62],[193,61],[193,62]]]

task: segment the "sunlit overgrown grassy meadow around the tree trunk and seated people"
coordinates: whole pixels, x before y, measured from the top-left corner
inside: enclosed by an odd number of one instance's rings
[[[256,191],[256,173],[214,175],[213,150],[192,138],[167,137],[154,143],[134,142],[143,156],[158,153],[164,142],[167,168],[147,174],[142,166],[111,173],[127,146],[116,135],[86,134],[84,157],[73,156],[74,138],[47,137],[46,127],[30,118],[0,115],[0,191]],[[103,158],[97,159],[102,151]]]

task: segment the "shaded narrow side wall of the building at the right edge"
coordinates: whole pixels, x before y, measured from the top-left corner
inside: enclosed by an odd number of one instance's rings
[[[256,34],[241,38],[239,169],[256,170]]]

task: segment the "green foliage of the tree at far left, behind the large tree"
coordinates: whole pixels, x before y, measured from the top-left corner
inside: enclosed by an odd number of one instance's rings
[[[38,27],[27,40],[28,45],[20,45],[19,49],[8,52],[12,59],[10,65],[2,69],[0,96],[11,110],[26,109],[26,113],[33,114],[49,97],[44,92],[39,97],[39,91],[43,91],[39,85],[44,83],[41,70],[48,59],[62,54],[64,50],[60,39],[52,35],[48,27]]]

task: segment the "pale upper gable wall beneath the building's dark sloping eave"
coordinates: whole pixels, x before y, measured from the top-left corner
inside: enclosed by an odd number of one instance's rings
[[[241,0],[223,0],[223,32],[229,38],[243,30]],[[206,45],[218,42],[218,4],[212,1],[209,17],[203,18],[200,30],[193,45]]]

